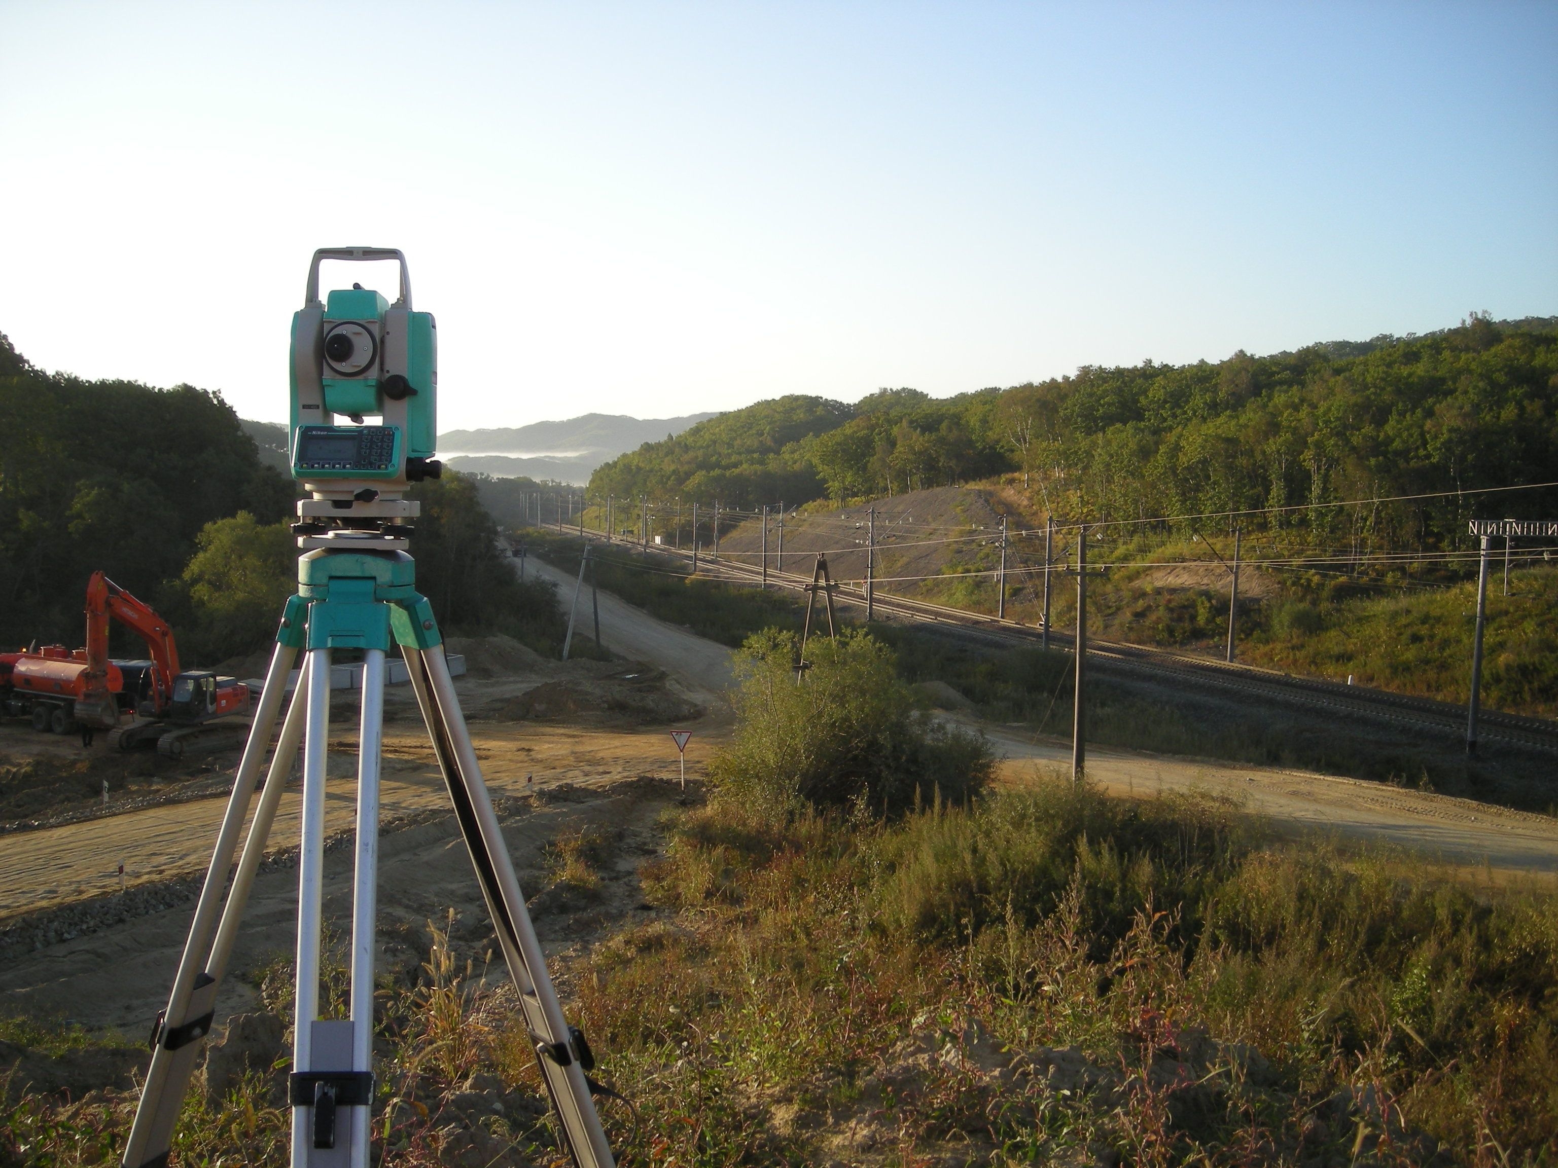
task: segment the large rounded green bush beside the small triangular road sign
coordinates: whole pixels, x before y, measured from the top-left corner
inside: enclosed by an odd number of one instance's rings
[[[724,794],[790,816],[802,807],[854,807],[887,816],[932,802],[966,804],[989,782],[983,737],[915,709],[893,653],[851,629],[807,645],[796,681],[795,634],[768,629],[737,653],[734,741],[710,763]]]

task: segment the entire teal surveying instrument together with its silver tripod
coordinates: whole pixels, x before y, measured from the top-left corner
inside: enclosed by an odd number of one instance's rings
[[[321,260],[397,260],[394,304],[354,283],[319,301]],[[151,1067],[125,1168],[165,1165],[196,1059],[210,1033],[217,992],[245,902],[265,853],[282,788],[302,746],[302,839],[298,860],[298,984],[291,1099],[293,1168],[366,1168],[374,1101],[374,913],[379,861],[379,754],[385,654],[391,635],[405,657],[422,719],[453,804],[477,881],[497,930],[523,1022],[576,1168],[612,1168],[586,1076],[594,1056],[562,1017],[541,942],[455,698],[442,637],[416,592],[407,554],[419,503],[411,483],[438,478],[438,352],[433,318],[411,310],[405,257],[388,248],[324,248],[313,254],[304,307],[291,333],[291,470],[310,494],[298,503],[298,593],[287,601],[265,688],[234,776],[217,847],[195,908],[168,1006],[151,1034]],[[366,424],[368,416],[377,424]],[[346,417],[351,425],[337,425]],[[357,755],[357,841],[352,878],[351,1017],[319,1018],[319,928],[324,892],[324,780],[330,730],[330,654],[363,654]],[[280,716],[288,674],[304,654]],[[265,765],[254,821],[234,869],[238,836]],[[232,880],[229,886],[229,872]],[[226,892],[226,895],[224,895]]]

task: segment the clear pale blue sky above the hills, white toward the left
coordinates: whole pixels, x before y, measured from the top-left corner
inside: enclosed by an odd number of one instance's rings
[[[1558,3],[0,0],[0,159],[48,369],[284,419],[374,245],[441,428],[939,396],[1558,313]]]

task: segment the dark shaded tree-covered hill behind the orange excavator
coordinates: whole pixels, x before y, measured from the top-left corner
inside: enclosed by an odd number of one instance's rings
[[[0,646],[79,645],[95,568],[156,601],[206,523],[291,500],[217,394],[45,374],[0,335]]]

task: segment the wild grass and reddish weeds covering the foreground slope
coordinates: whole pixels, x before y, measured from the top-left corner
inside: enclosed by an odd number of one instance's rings
[[[639,1110],[603,1104],[623,1165],[1558,1162],[1558,905],[1535,888],[1042,774],[893,822],[715,800],[664,829],[659,917],[559,969]],[[559,841],[555,878],[597,847]],[[559,1165],[513,990],[453,919],[428,930],[382,995],[375,1157]],[[282,1163],[274,1090],[192,1095],[173,1163]],[[483,1090],[525,1106],[463,1112]],[[0,1163],[111,1162],[132,1103],[23,1095]]]

